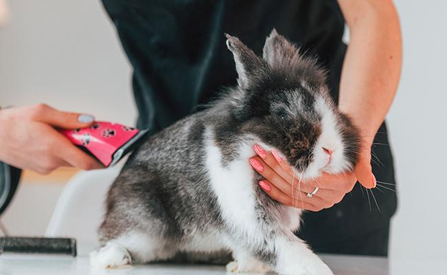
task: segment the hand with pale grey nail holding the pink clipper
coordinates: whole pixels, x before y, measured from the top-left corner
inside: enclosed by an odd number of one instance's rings
[[[57,111],[45,104],[1,109],[0,160],[42,174],[60,166],[103,168],[54,129],[83,128],[93,120],[91,115]]]

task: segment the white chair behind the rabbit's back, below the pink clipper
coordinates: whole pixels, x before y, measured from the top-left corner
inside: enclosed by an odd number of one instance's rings
[[[84,171],[71,178],[60,194],[45,236],[75,238],[79,255],[97,248],[106,192],[120,169]]]

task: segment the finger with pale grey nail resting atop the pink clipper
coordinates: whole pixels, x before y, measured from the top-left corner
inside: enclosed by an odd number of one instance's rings
[[[34,120],[45,122],[64,129],[88,127],[95,120],[93,115],[58,111],[45,104],[38,104],[33,108],[34,111],[32,117]]]

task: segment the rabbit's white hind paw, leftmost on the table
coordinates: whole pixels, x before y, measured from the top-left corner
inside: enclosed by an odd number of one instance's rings
[[[90,265],[97,268],[119,268],[132,265],[132,260],[126,248],[109,241],[100,251],[90,252]]]

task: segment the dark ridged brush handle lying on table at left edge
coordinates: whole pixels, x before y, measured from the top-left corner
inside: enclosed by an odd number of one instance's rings
[[[5,236],[0,238],[0,253],[69,254],[76,256],[76,239]]]

